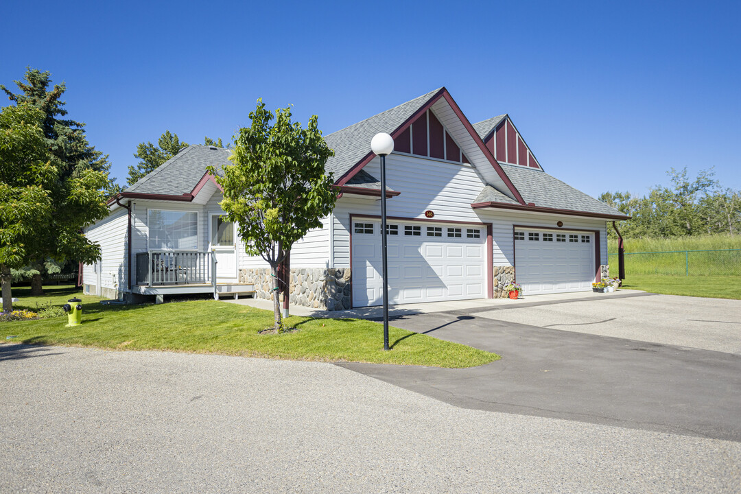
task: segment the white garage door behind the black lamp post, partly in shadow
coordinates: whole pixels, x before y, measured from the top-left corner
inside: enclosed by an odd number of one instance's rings
[[[353,307],[383,304],[381,221],[354,220]],[[486,229],[388,222],[390,304],[486,296]]]

